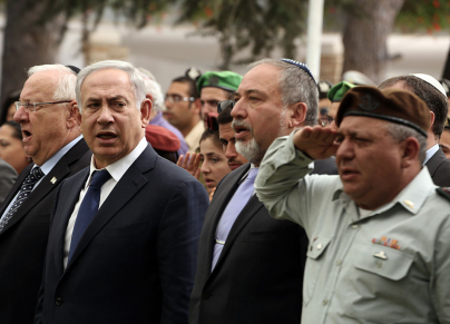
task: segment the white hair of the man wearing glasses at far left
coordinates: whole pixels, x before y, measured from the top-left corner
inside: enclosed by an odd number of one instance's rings
[[[28,70],[28,77],[41,71],[59,71],[60,77],[53,92],[53,100],[75,100],[77,73],[62,65],[33,66]]]

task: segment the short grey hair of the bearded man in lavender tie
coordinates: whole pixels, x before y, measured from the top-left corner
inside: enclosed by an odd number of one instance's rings
[[[296,102],[305,102],[307,106],[305,125],[317,124],[319,90],[311,76],[301,68],[275,59],[262,59],[248,66],[253,69],[260,65],[270,65],[280,69],[281,77],[278,88],[284,107]]]

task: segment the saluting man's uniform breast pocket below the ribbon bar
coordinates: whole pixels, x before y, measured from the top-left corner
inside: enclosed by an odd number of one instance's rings
[[[344,313],[376,323],[398,323],[404,316],[404,301],[411,282],[408,273],[413,257],[381,245],[359,245],[354,254],[354,275],[346,287]]]

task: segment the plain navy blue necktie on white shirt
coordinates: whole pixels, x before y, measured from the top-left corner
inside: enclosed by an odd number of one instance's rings
[[[106,169],[95,171],[90,180],[88,192],[81,202],[80,209],[78,210],[77,220],[75,220],[72,239],[70,242],[69,259],[74,255],[74,252],[81,239],[82,234],[89,226],[94,216],[97,214],[98,206],[100,203],[100,189],[101,186],[111,176]]]

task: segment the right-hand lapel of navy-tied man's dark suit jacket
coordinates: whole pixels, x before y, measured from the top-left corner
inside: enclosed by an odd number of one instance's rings
[[[70,262],[67,265],[66,272],[77,261],[79,255],[82,254],[92,238],[99,230],[101,230],[109,219],[111,219],[121,209],[121,207],[126,205],[148,183],[148,179],[143,174],[153,169],[156,159],[156,153],[150,146],[147,146],[136,161],[130,165],[128,170],[114,187],[108,198],[106,198],[100,209],[98,209],[88,228],[86,228],[85,234],[82,235],[72,257],[70,258]],[[71,210],[74,210],[74,208]]]

